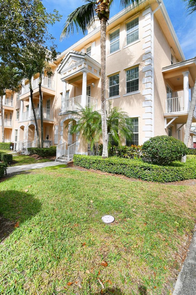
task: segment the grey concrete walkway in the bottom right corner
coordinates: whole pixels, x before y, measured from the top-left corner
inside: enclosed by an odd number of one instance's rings
[[[196,230],[196,227],[195,229]],[[173,295],[196,294],[196,232],[190,243],[187,257],[178,275]]]

